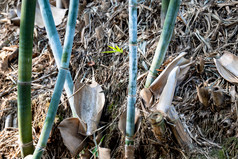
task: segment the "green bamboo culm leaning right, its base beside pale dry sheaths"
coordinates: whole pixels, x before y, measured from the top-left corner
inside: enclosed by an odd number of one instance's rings
[[[179,5],[180,0],[170,0],[169,2],[169,7],[164,21],[163,30],[155,51],[155,55],[149,70],[149,74],[146,79],[145,83],[146,88],[148,88],[151,85],[151,83],[155,80],[158,73],[157,69],[160,68],[161,64],[164,61],[165,53],[168,49],[173,34],[174,25],[179,10]]]

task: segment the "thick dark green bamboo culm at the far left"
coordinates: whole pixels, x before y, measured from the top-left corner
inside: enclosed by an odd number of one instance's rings
[[[18,58],[18,127],[21,156],[34,151],[31,114],[31,69],[36,0],[22,0]]]

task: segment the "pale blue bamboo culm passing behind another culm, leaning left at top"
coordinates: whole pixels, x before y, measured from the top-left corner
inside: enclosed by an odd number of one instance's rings
[[[60,43],[60,38],[59,38],[59,34],[56,30],[55,27],[55,23],[54,23],[54,19],[53,19],[53,15],[50,9],[50,3],[48,0],[38,0],[38,3],[40,5],[40,10],[41,10],[41,14],[42,14],[42,18],[45,24],[45,28],[46,28],[46,32],[49,38],[49,43],[51,46],[51,49],[53,51],[53,55],[56,61],[56,65],[58,67],[58,69],[60,68],[60,60],[62,57],[62,46]],[[73,80],[72,77],[70,75],[70,72],[67,71],[67,76],[66,76],[66,81],[64,84],[64,88],[66,91],[66,94],[68,96],[69,99],[69,105],[72,111],[72,114],[74,117],[77,117],[76,111],[74,109],[74,97],[72,97],[73,95]]]

